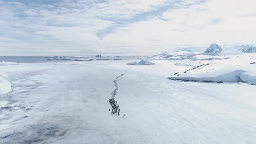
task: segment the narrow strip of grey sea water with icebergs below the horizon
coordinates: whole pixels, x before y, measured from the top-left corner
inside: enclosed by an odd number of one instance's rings
[[[142,57],[138,56],[121,56],[121,57],[102,57],[102,58],[95,58],[95,56],[89,56],[87,58],[74,58],[70,57],[71,59],[138,59]],[[20,63],[33,63],[33,62],[69,62],[69,60],[48,60],[45,56],[0,56],[0,61],[6,62],[20,62]]]

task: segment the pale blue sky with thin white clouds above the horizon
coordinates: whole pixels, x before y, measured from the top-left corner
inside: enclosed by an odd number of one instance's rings
[[[151,55],[256,43],[256,0],[0,0],[0,56]]]

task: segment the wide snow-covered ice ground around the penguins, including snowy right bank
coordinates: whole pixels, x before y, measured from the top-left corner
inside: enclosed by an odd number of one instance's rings
[[[0,144],[254,144],[256,85],[167,78],[242,69],[248,79],[255,77],[255,56],[0,65],[13,83],[12,92],[0,95]],[[121,74],[118,117],[107,100]]]

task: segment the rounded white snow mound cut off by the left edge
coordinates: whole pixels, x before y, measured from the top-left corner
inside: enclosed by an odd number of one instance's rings
[[[12,83],[8,78],[8,75],[4,72],[0,72],[0,95],[6,94],[12,91]]]

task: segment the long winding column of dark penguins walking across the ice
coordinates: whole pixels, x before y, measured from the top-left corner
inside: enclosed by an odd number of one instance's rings
[[[119,105],[117,104],[117,101],[115,101],[115,96],[117,95],[117,91],[118,91],[118,84],[117,84],[117,81],[118,81],[118,78],[123,76],[124,74],[121,74],[119,75],[118,77],[116,77],[116,79],[113,81],[114,84],[115,84],[115,89],[113,90],[113,92],[111,93],[112,94],[112,98],[109,98],[108,99],[108,103],[109,105],[112,106],[112,112],[111,112],[111,115],[120,115],[120,108],[119,108]],[[110,109],[108,110],[110,111]],[[123,115],[125,116],[125,114]]]

